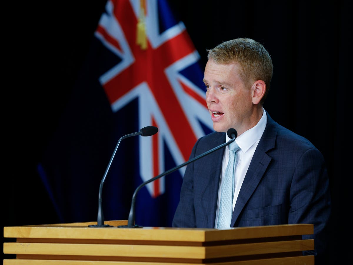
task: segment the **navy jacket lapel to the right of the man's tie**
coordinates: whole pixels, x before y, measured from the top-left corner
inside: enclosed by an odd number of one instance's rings
[[[262,179],[265,170],[267,169],[271,157],[267,155],[267,151],[275,147],[277,127],[276,123],[267,114],[267,125],[265,131],[256,147],[253,158],[246,172],[243,184],[241,185],[237,202],[235,203],[231,227],[237,221],[240,212],[244,209],[245,204],[255,191],[258,183]]]

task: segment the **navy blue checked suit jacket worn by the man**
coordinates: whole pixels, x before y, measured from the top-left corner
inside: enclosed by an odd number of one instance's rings
[[[324,251],[330,215],[330,193],[324,158],[315,146],[273,121],[253,155],[233,211],[231,227],[314,225],[315,250]],[[197,140],[190,158],[226,141],[213,132]],[[173,227],[214,228],[224,149],[186,168]],[[307,254],[316,254],[309,252]]]

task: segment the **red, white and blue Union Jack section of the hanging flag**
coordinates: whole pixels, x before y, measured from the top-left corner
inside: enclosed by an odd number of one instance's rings
[[[113,112],[138,98],[139,128],[159,129],[139,141],[141,180],[169,169],[164,168],[163,143],[175,164],[187,161],[196,140],[212,130],[212,122],[199,54],[184,23],[174,20],[164,0],[112,0],[95,36],[120,58],[99,79]],[[180,169],[181,176],[184,171]],[[164,181],[162,177],[147,185],[152,198],[165,192]]]

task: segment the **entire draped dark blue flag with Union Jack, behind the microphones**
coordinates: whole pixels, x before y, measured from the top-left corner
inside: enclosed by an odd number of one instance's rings
[[[61,222],[97,219],[98,188],[123,135],[102,192],[105,220],[127,219],[142,182],[188,160],[212,131],[199,54],[166,0],[110,0],[71,100],[38,170]],[[142,188],[136,223],[170,227],[185,167]]]

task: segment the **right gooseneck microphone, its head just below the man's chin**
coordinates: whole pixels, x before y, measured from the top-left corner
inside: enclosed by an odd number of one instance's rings
[[[194,162],[194,161],[197,160],[197,159],[200,159],[200,158],[202,158],[202,157],[204,157],[204,156],[207,156],[207,155],[209,155],[210,153],[213,153],[213,152],[215,152],[215,151],[217,151],[217,150],[219,150],[219,149],[225,147],[226,145],[233,143],[233,142],[235,141],[235,138],[237,138],[238,133],[237,133],[237,131],[236,131],[235,129],[230,128],[230,129],[227,131],[227,135],[228,135],[229,138],[231,138],[231,140],[229,140],[227,143],[224,143],[224,144],[221,144],[221,145],[219,145],[219,146],[216,146],[216,147],[214,147],[213,149],[208,150],[207,152],[202,153],[201,155],[195,156],[194,158],[192,158],[192,159],[186,161],[185,163],[180,164],[180,165],[178,165],[178,166],[176,166],[176,167],[174,167],[174,168],[172,168],[172,169],[169,169],[169,170],[165,171],[164,173],[162,173],[162,174],[160,174],[160,175],[158,175],[158,176],[155,176],[155,177],[153,177],[152,179],[149,179],[149,180],[143,182],[141,185],[139,185],[139,186],[135,189],[135,192],[134,192],[133,195],[132,195],[131,208],[130,208],[129,218],[128,218],[128,220],[127,220],[127,225],[119,225],[118,227],[119,227],[119,228],[139,228],[139,227],[142,227],[142,226],[140,226],[140,225],[134,224],[134,223],[135,223],[135,202],[136,202],[136,194],[137,194],[137,192],[138,192],[142,187],[144,187],[145,185],[147,185],[148,183],[150,183],[150,182],[152,182],[152,181],[155,181],[155,180],[157,180],[157,179],[159,179],[159,178],[161,178],[161,177],[163,177],[163,176],[165,176],[165,175],[168,175],[168,174],[174,172],[175,170],[178,170],[179,168],[182,168],[182,167],[184,167],[185,165]]]

